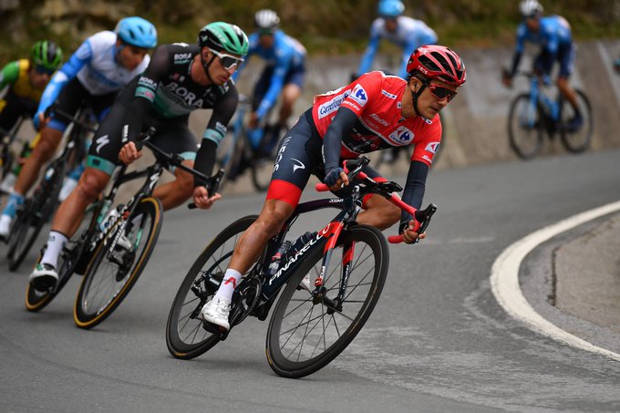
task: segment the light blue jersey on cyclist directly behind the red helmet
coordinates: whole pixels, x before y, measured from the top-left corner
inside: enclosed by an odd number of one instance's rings
[[[396,31],[390,32],[386,28],[385,19],[379,17],[370,27],[370,42],[357,68],[358,75],[363,75],[370,70],[382,38],[402,48],[401,65],[398,70],[398,76],[402,78],[407,78],[407,62],[411,53],[419,46],[437,43],[435,31],[421,20],[416,20],[406,15],[399,15]]]

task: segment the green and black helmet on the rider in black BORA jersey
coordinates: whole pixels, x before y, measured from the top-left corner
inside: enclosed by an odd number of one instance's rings
[[[248,36],[245,36],[243,30],[239,26],[224,22],[210,23],[202,27],[198,34],[198,45],[239,56],[247,55],[249,47]]]

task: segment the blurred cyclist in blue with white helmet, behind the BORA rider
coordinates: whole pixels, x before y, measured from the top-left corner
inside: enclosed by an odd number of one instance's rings
[[[255,147],[269,153],[286,129],[286,121],[293,113],[294,102],[301,96],[305,76],[305,47],[299,41],[286,35],[280,27],[280,17],[268,9],[259,10],[254,15],[256,32],[249,37],[250,48],[248,58],[252,55],[262,57],[266,66],[253,90],[253,113],[250,116],[249,128]],[[236,80],[244,66],[233,75]],[[256,130],[264,117],[270,112],[282,96],[282,105],[278,113],[277,123],[271,136],[262,137]],[[263,139],[263,141],[260,141]]]

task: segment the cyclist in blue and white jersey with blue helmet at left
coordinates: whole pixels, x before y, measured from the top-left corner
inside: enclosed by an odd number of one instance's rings
[[[27,158],[15,182],[5,210],[0,215],[0,238],[10,232],[15,211],[35,184],[39,171],[57,151],[68,120],[46,109],[55,104],[58,111],[74,115],[83,104],[103,119],[119,90],[149,65],[147,54],[157,46],[157,31],[149,21],[138,17],[119,20],[114,31],[89,36],[47,84],[34,117],[41,138]]]

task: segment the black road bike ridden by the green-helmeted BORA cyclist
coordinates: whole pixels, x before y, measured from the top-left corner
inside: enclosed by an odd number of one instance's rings
[[[148,147],[155,155],[155,162],[132,171],[119,164],[109,191],[88,207],[78,236],[63,248],[58,260],[56,288],[39,292],[28,284],[26,309],[41,310],[67,284],[72,274],[84,274],[74,306],[74,321],[81,328],[100,324],[129,294],[157,243],[163,210],[160,201],[152,197],[152,192],[163,169],[170,166],[181,168],[208,182],[210,193],[217,191],[223,171],[209,178],[188,168],[181,164],[180,155],[166,153],[153,145],[149,139],[154,134],[155,129],[150,129],[137,146]],[[126,182],[139,179],[143,179],[142,186],[129,202],[114,206],[119,188]]]

